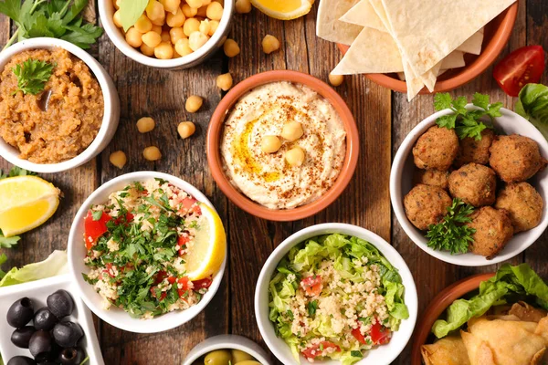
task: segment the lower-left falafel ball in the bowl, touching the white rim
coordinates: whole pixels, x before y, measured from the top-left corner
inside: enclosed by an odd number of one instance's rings
[[[453,203],[445,190],[438,186],[419,183],[404,198],[406,215],[416,228],[427,230],[430,224],[438,224]]]

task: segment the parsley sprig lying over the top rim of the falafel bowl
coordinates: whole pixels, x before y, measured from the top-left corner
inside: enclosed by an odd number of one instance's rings
[[[434,97],[434,108],[437,111],[453,110],[453,114],[439,117],[436,120],[437,126],[447,128],[448,130],[455,130],[458,138],[461,140],[469,137],[479,141],[481,140],[481,131],[490,128],[481,121],[481,118],[488,116],[493,121],[495,118],[501,117],[502,103],[490,104],[489,95],[477,92],[474,94],[472,104],[478,107],[479,110],[467,110],[467,104],[468,99],[466,97],[453,99],[448,93],[436,94]]]

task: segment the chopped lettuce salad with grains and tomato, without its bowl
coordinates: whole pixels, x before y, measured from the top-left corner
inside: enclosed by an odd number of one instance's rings
[[[321,235],[291,248],[269,283],[269,319],[299,359],[350,365],[409,317],[397,269],[369,242]]]

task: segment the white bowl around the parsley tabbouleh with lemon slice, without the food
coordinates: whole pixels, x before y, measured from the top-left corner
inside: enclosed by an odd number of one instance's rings
[[[84,281],[82,273],[88,274],[90,269],[84,265],[84,257],[86,256],[86,247],[84,245],[84,217],[88,213],[91,205],[105,203],[109,195],[113,192],[123,189],[126,185],[133,182],[142,182],[150,179],[163,179],[169,183],[173,183],[175,186],[183,189],[185,192],[190,193],[199,202],[214,208],[211,202],[207,200],[205,195],[196,189],[190,183],[186,183],[183,180],[162,172],[132,172],[121,175],[115,179],[112,179],[108,183],[104,183],[95,192],[91,193],[90,197],[80,207],[78,213],[74,217],[72,226],[70,227],[70,233],[68,235],[68,267],[73,281],[76,283],[79,296],[83,299],[84,303],[91,309],[97,317],[101,318],[105,322],[111,324],[114,327],[121,328],[130,332],[136,333],[156,333],[163,332],[168,329],[172,329],[195,318],[205,306],[215,296],[217,289],[221,285],[221,280],[225,272],[225,266],[227,266],[227,257],[223,261],[221,269],[213,277],[213,283],[209,290],[202,297],[202,300],[195,306],[186,310],[176,310],[170,313],[166,313],[163,316],[159,316],[153,319],[139,319],[131,318],[130,315],[121,308],[115,308],[112,306],[106,310],[103,308],[103,299],[93,289],[93,287]]]

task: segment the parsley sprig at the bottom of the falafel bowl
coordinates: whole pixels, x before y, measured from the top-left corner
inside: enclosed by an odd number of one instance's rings
[[[472,205],[458,198],[453,199],[443,220],[428,227],[428,247],[437,251],[449,251],[451,255],[466,254],[469,244],[474,242],[472,235],[476,233],[474,228],[465,225],[471,222],[469,215],[473,212]]]

